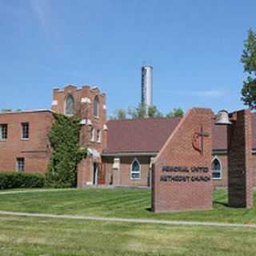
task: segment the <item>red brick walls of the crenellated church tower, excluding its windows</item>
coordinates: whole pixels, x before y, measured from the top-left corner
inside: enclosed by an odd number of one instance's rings
[[[97,150],[98,153],[102,153],[102,149],[106,146],[106,130],[103,129],[103,126],[106,125],[106,94],[102,94],[97,88],[91,89],[90,86],[82,86],[81,89],[78,89],[76,86],[66,86],[63,90],[54,90],[54,105],[52,110],[64,114],[64,107],[66,97],[72,95],[75,102],[75,115],[81,119],[90,119],[91,126],[94,127],[95,137],[96,130],[101,130],[102,139],[101,142],[91,142],[90,141],[90,127],[88,125],[82,125],[80,132],[80,143],[81,146],[90,148],[92,150]],[[99,115],[98,117],[94,116],[94,98],[98,95],[99,99]],[[90,99],[90,103],[82,102],[82,98]],[[93,165],[94,162],[97,162],[99,165],[99,182],[105,180],[104,174],[102,173],[101,157],[93,157],[88,155],[88,157],[83,160],[78,165],[78,186],[86,186],[93,182]]]

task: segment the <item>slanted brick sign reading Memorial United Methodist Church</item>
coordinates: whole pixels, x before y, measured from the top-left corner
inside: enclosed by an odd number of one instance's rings
[[[182,118],[153,165],[152,210],[212,208],[210,109],[193,108]]]

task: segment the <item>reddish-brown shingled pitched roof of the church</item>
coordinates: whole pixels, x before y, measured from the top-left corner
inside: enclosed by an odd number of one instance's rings
[[[252,117],[255,149],[256,115],[253,114]],[[180,120],[180,117],[110,120],[107,122],[107,145],[103,154],[157,153]],[[213,150],[226,150],[226,130],[226,126],[216,126],[213,123]]]

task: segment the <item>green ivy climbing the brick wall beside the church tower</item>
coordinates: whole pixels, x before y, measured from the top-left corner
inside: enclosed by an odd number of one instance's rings
[[[77,183],[78,163],[87,153],[79,146],[80,120],[63,114],[54,114],[54,118],[49,134],[52,154],[46,186],[73,187]]]

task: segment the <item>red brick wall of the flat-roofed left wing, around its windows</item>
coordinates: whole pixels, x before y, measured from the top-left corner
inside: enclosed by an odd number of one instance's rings
[[[0,141],[0,170],[15,170],[16,158],[25,158],[26,172],[45,173],[50,159],[48,133],[54,118],[50,111],[0,114],[8,124],[8,138]],[[29,122],[30,138],[21,139],[21,123]]]

